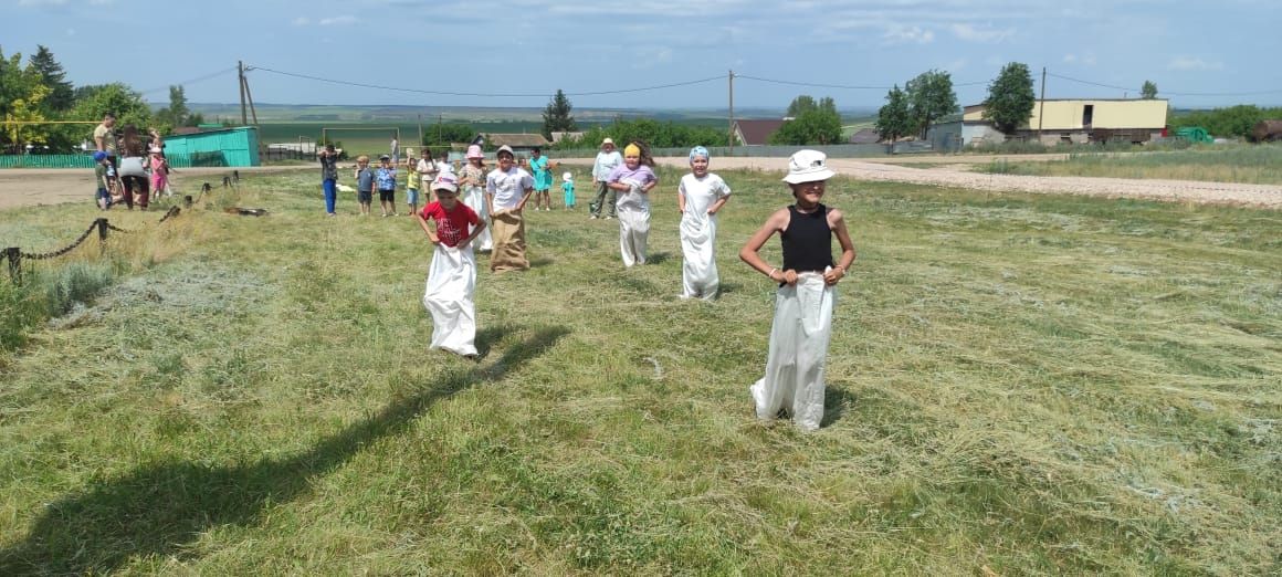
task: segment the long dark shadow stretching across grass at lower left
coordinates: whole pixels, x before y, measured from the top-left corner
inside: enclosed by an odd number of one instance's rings
[[[499,337],[494,331],[477,341],[488,347]],[[306,494],[315,477],[342,467],[365,445],[400,433],[433,403],[501,380],[567,333],[564,327],[541,328],[490,365],[419,383],[378,414],[292,458],[233,465],[158,463],[95,481],[50,504],[24,541],[0,550],[0,574],[110,573],[135,556],[190,556],[190,545],[203,532],[256,523],[265,508]]]

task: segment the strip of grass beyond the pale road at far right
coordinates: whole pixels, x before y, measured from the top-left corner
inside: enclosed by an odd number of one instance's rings
[[[1028,176],[1168,178],[1179,181],[1282,185],[1282,145],[1238,145],[1191,150],[1072,154],[1068,160],[1020,163],[995,160],[981,172]]]

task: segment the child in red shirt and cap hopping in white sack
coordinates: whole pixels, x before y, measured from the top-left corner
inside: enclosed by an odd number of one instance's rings
[[[454,174],[438,176],[432,183],[437,200],[418,214],[419,226],[436,245],[423,291],[423,308],[432,315],[432,342],[428,347],[474,359],[477,317],[472,299],[477,262],[472,241],[485,230],[485,221],[459,201],[458,190]],[[428,221],[436,223],[435,230]]]

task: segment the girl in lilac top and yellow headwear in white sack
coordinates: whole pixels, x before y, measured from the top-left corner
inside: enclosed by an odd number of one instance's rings
[[[645,264],[650,238],[650,191],[659,186],[654,176],[654,159],[644,142],[631,142],[623,149],[623,165],[614,167],[606,186],[618,192],[619,251],[623,265]]]

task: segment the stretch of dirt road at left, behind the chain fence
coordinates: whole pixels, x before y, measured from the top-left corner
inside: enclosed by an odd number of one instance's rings
[[[314,167],[238,168],[254,172],[303,171]],[[200,185],[221,186],[232,168],[179,168],[173,173],[174,187],[182,194],[200,192]],[[319,173],[318,173],[319,174]],[[318,177],[319,178],[319,177]],[[317,180],[317,183],[320,181]],[[0,171],[0,210],[40,204],[94,203],[94,171],[85,168],[9,168]]]

